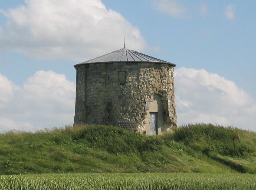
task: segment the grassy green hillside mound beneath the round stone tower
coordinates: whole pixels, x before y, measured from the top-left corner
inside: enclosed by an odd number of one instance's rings
[[[0,134],[0,174],[256,173],[256,134],[196,124],[144,136],[111,126]]]

